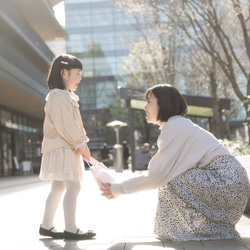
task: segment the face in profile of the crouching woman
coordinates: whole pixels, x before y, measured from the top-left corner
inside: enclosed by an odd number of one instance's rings
[[[154,123],[160,125],[161,122],[157,120],[158,112],[159,112],[159,106],[157,103],[157,98],[154,96],[154,94],[149,92],[148,98],[147,98],[147,104],[144,107],[145,113],[146,113],[146,119],[148,123]]]

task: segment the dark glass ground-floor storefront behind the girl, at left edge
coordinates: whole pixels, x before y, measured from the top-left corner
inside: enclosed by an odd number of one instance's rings
[[[38,173],[41,142],[42,121],[0,106],[0,177],[22,174],[23,162]]]

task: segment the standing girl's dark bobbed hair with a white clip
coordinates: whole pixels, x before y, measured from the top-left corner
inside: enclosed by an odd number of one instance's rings
[[[72,55],[62,54],[54,58],[48,73],[47,84],[49,90],[58,88],[65,89],[61,71],[63,69],[80,69],[82,70],[81,61]]]

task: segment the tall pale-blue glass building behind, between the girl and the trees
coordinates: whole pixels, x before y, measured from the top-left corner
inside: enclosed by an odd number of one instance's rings
[[[121,62],[138,32],[133,17],[121,13],[111,0],[64,2],[67,52],[79,57],[84,65],[77,94],[91,146],[101,143],[100,115],[117,96],[117,86],[122,85]]]

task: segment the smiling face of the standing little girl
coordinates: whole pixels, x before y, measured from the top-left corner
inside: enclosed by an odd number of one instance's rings
[[[70,91],[76,91],[78,84],[80,83],[82,71],[80,69],[64,69],[62,72],[65,89]]]

